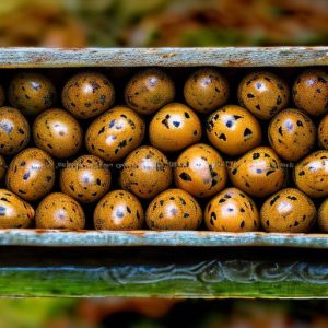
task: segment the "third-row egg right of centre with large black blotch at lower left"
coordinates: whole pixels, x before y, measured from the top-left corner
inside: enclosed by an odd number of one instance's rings
[[[225,186],[225,162],[210,145],[197,143],[186,149],[176,161],[175,184],[195,197],[209,197]]]

